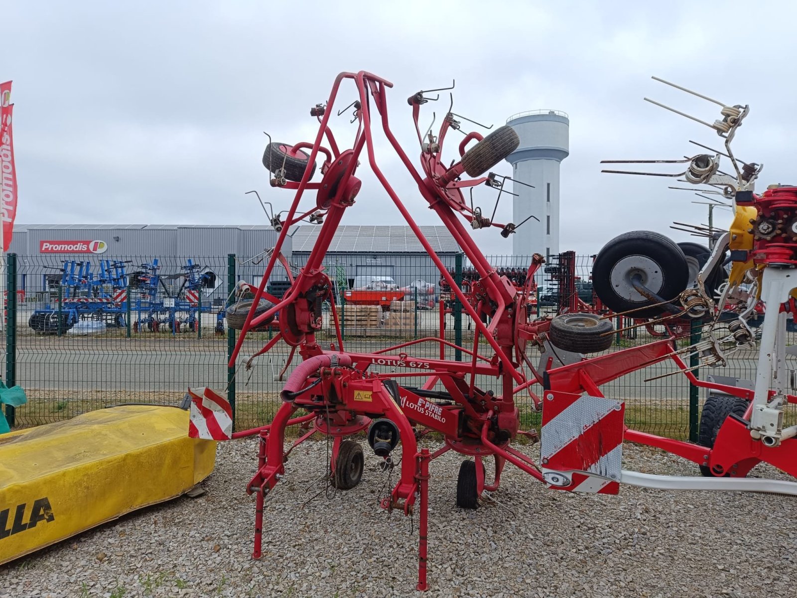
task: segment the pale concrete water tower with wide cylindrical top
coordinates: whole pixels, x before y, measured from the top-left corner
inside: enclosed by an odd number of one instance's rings
[[[570,120],[559,110],[532,110],[510,116],[506,124],[520,136],[520,145],[509,154],[514,183],[512,222],[516,225],[531,215],[512,234],[512,254],[559,253],[559,163],[570,153]],[[527,260],[524,260],[526,262]],[[528,264],[525,264],[528,266]]]

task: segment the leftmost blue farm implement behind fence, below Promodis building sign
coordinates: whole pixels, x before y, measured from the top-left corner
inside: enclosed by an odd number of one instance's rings
[[[127,308],[126,263],[100,260],[100,271],[95,276],[90,262],[63,262],[61,276],[54,281],[57,297],[50,297],[44,309],[34,311],[28,325],[43,334],[63,334],[81,320],[123,327]]]

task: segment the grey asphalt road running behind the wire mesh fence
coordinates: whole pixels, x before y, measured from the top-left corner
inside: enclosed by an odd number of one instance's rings
[[[347,348],[368,352],[384,347],[385,343],[384,340],[351,339]],[[261,346],[260,341],[247,342],[241,363]],[[435,345],[423,344],[412,354],[432,357],[437,356],[437,352]],[[279,391],[281,384],[274,378],[286,358],[287,350],[282,345],[276,352],[258,357],[251,370],[241,367],[238,388],[241,391]],[[532,362],[537,360],[535,350]],[[797,368],[797,360],[790,358],[789,366]],[[756,355],[746,352],[729,360],[728,368],[703,368],[701,378],[715,373],[752,379],[755,370]],[[604,391],[607,396],[618,399],[664,399],[673,406],[685,405],[689,398],[685,376],[676,374],[645,381],[672,372],[677,372],[674,364],[664,362],[615,380],[607,384]],[[121,339],[83,338],[74,342],[69,338],[38,337],[24,340],[18,346],[17,380],[26,388],[39,389],[184,391],[189,385],[224,388],[226,340],[180,342],[161,338],[157,342],[127,344]],[[500,392],[492,378],[480,376],[477,384]]]

